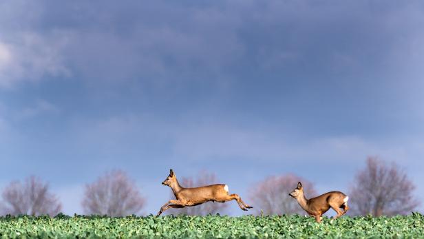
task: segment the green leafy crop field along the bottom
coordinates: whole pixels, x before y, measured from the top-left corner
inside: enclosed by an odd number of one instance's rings
[[[6,216],[2,238],[424,238],[424,216]]]

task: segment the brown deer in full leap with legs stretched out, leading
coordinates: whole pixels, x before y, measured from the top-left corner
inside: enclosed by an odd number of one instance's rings
[[[169,176],[165,181],[162,182],[162,185],[167,185],[171,187],[173,195],[176,196],[177,200],[169,200],[158,212],[159,216],[162,212],[170,208],[182,208],[182,207],[192,207],[195,205],[200,205],[204,202],[227,202],[231,200],[236,200],[237,204],[244,211],[247,211],[248,208],[253,208],[243,202],[242,198],[237,194],[229,194],[229,187],[224,184],[215,184],[207,185],[203,187],[181,187],[178,183],[176,174],[172,171],[169,171]]]

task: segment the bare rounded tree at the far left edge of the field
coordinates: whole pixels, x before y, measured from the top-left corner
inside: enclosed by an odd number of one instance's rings
[[[26,178],[23,184],[19,181],[10,183],[1,196],[3,214],[56,216],[62,209],[59,199],[50,193],[49,185],[35,176]]]

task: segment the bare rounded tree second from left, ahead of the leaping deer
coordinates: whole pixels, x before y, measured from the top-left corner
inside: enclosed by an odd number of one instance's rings
[[[127,216],[137,214],[145,198],[125,172],[114,170],[85,186],[81,205],[85,214]]]

